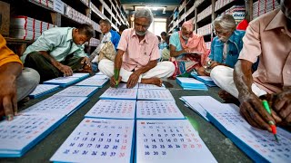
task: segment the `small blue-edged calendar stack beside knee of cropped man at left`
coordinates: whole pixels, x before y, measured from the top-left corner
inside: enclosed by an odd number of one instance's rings
[[[29,94],[29,97],[32,99],[36,99],[58,89],[59,89],[58,85],[38,84],[35,88],[35,91]]]

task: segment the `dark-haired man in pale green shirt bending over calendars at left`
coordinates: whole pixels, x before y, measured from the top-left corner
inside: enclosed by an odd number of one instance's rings
[[[59,76],[71,76],[85,65],[90,72],[90,61],[83,44],[91,37],[95,37],[95,30],[90,24],[80,24],[78,28],[52,28],[27,47],[21,60],[26,67],[40,74],[41,82]]]

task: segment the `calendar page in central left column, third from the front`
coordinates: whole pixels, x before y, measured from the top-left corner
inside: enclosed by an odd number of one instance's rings
[[[135,100],[137,89],[108,88],[99,98],[104,100]]]

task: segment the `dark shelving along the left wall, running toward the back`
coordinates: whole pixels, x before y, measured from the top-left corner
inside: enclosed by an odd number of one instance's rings
[[[25,15],[56,26],[77,26],[78,24],[93,24],[96,37],[90,46],[96,46],[100,42],[101,19],[108,19],[112,23],[113,30],[118,31],[121,24],[129,26],[125,12],[117,0],[3,0],[10,4],[12,15]],[[54,10],[54,3],[64,3],[64,13]],[[9,38],[8,38],[9,37]],[[8,44],[33,43],[33,40],[24,40],[7,37]]]

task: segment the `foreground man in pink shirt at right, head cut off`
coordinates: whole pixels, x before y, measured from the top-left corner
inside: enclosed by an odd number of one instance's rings
[[[281,10],[264,14],[247,27],[235,71],[216,66],[210,73],[220,88],[238,98],[240,112],[252,126],[269,131],[270,123],[291,123],[291,1],[278,1]],[[261,99],[270,104],[271,115]]]

